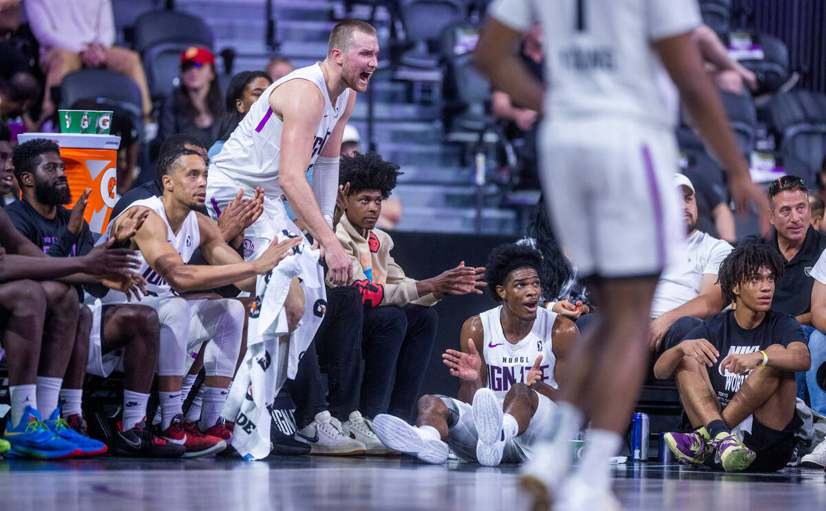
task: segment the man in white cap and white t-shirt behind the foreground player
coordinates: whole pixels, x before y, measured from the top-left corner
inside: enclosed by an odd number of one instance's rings
[[[670,330],[674,330],[672,335],[679,342],[700,319],[723,309],[726,304],[717,283],[717,272],[732,251],[731,245],[722,239],[697,230],[697,204],[691,180],[675,174],[674,182],[683,198],[687,234],[681,259],[662,272],[654,291],[649,346],[656,352],[662,348],[663,338]],[[686,316],[689,318],[677,321]]]

